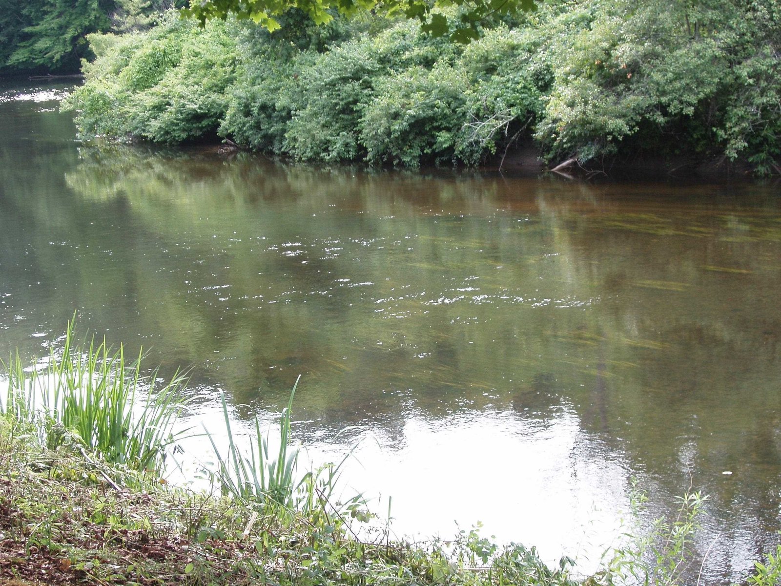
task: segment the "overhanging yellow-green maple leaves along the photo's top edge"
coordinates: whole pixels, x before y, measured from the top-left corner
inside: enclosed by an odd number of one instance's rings
[[[456,23],[435,10],[452,6],[460,9]],[[290,9],[301,10],[317,24],[332,20],[333,13],[353,16],[360,10],[371,10],[419,20],[422,30],[434,37],[449,35],[454,41],[468,42],[479,37],[478,27],[488,17],[536,8],[534,0],[201,0],[192,2],[184,12],[200,20],[201,24],[215,18],[225,20],[229,14],[234,14],[240,20],[253,20],[273,31],[280,28],[276,17]]]

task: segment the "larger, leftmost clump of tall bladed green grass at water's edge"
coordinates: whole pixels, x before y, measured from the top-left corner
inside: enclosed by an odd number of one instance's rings
[[[166,449],[184,434],[173,432],[184,377],[177,372],[155,388],[158,371],[142,377],[141,352],[128,362],[123,346],[113,350],[105,339],[77,345],[73,327],[71,320],[61,353],[52,349],[41,369],[24,367],[18,350],[0,360],[8,377],[0,412],[34,425],[48,445],[64,428],[109,463],[161,470]]]

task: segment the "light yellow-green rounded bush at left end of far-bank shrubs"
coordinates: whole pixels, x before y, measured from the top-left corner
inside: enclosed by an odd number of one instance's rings
[[[228,109],[236,45],[230,23],[199,29],[169,13],[147,33],[92,35],[98,59],[64,109],[84,136],[173,143],[216,134]]]

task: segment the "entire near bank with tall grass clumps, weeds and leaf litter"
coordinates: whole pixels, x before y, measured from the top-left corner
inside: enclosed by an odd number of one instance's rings
[[[273,454],[259,428],[255,445],[237,447],[223,398],[228,446],[220,453],[212,441],[218,464],[203,470],[212,490],[172,486],[163,472],[184,381],[160,386],[122,348],[73,339],[69,328],[40,370],[18,356],[2,365],[0,584],[699,583],[693,542],[706,498],[697,493],[680,498],[674,519],[628,531],[591,576],[476,531],[447,542],[391,538],[361,495],[337,498],[339,466],[299,474],[294,391]],[[633,509],[640,520],[640,493]],[[781,583],[781,546],[748,582]]]

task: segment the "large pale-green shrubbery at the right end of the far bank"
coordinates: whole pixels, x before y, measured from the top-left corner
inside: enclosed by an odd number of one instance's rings
[[[585,2],[551,20],[549,159],[744,156],[776,166],[779,4]]]

